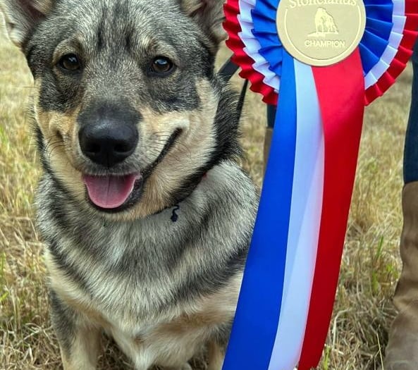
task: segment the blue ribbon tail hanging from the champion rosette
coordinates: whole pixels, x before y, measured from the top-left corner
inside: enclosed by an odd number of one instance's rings
[[[283,53],[278,113],[223,370],[267,370],[283,296],[296,145],[293,58]]]

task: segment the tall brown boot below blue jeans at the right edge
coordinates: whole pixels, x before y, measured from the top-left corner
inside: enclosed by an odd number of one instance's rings
[[[398,316],[389,333],[384,370],[418,370],[418,182],[403,188],[402,210],[403,267],[393,298]]]

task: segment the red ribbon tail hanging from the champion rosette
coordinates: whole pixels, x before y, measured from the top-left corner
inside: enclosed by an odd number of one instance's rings
[[[299,370],[317,366],[324,350],[338,284],[364,113],[364,77],[358,48],[340,63],[312,69],[324,123],[324,200]]]

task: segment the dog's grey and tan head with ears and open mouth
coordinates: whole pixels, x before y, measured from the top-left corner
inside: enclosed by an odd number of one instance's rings
[[[92,209],[171,206],[214,155],[219,0],[0,0],[35,78],[44,167]]]

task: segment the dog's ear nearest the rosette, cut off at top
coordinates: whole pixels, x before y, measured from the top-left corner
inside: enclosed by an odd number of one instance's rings
[[[217,51],[219,43],[226,39],[222,23],[224,0],[178,0],[183,11],[202,28]]]

